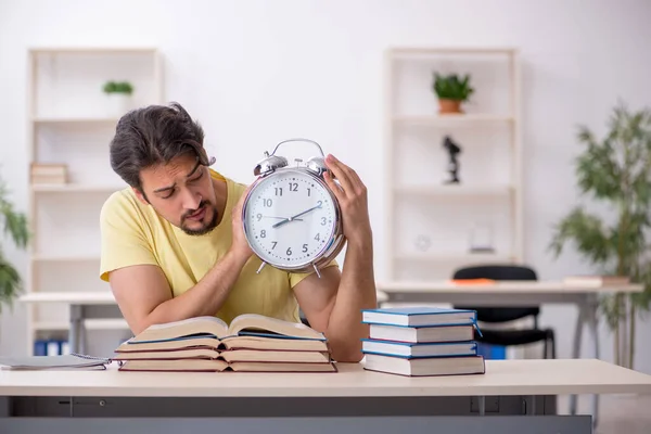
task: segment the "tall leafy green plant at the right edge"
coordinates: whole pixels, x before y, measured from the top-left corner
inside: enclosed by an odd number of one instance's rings
[[[651,110],[631,112],[620,103],[608,127],[601,139],[579,127],[584,150],[575,159],[575,173],[582,196],[605,202],[614,221],[576,205],[556,225],[550,248],[558,258],[572,242],[597,272],[627,276],[644,285],[642,293],[605,296],[600,303],[614,334],[615,362],[633,368],[636,318],[648,312],[651,301]]]

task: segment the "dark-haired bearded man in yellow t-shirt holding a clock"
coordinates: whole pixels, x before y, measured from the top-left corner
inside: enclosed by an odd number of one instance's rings
[[[110,282],[131,331],[197,316],[230,322],[241,314],[299,321],[328,337],[339,361],[359,361],[363,308],[376,305],[367,189],[335,157],[327,177],[347,239],[343,270],[319,278],[265,267],[243,233],[246,186],[208,166],[204,132],[186,110],[152,105],[126,114],[111,142],[111,165],[128,188],[101,212],[101,279]],[[340,187],[341,186],[341,187]]]

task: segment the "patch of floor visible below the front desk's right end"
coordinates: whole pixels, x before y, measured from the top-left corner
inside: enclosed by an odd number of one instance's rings
[[[566,414],[570,397],[560,396],[558,411]],[[591,397],[580,396],[578,410],[591,411]],[[651,395],[601,395],[595,434],[651,434]]]

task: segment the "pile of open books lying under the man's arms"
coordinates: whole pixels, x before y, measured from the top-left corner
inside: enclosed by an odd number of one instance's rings
[[[120,371],[336,372],[324,335],[255,314],[153,324],[115,349]]]

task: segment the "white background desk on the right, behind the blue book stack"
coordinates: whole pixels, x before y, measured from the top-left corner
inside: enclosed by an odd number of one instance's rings
[[[379,282],[376,285],[384,303],[426,303],[454,304],[473,307],[515,307],[546,304],[576,305],[578,315],[574,330],[572,357],[580,356],[584,326],[590,330],[593,343],[593,357],[599,356],[599,323],[597,310],[599,296],[614,293],[636,293],[643,290],[641,284],[612,286],[565,285],[554,281],[499,281],[495,283],[441,282]],[[598,413],[598,397],[592,401],[592,414]],[[572,396],[570,411],[576,412],[576,396]]]

